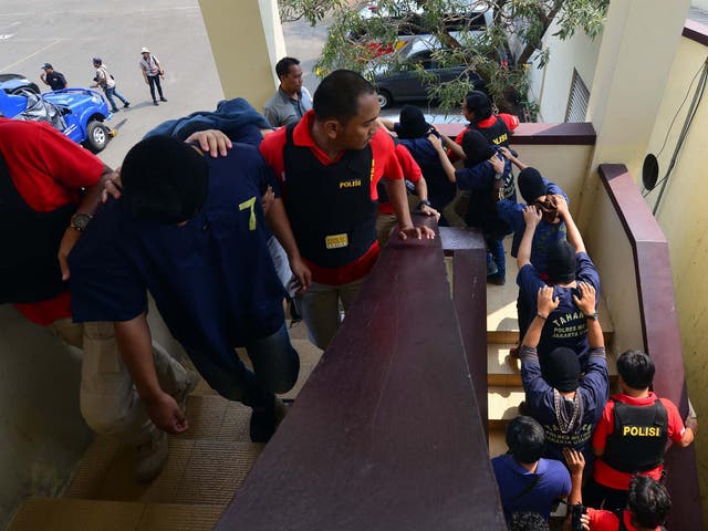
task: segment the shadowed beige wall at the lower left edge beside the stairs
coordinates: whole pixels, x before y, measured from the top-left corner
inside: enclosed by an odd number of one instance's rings
[[[0,305],[0,529],[30,493],[55,496],[92,439],[79,410],[80,351]]]

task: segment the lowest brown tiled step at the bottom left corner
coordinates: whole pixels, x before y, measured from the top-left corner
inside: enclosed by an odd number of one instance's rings
[[[187,506],[66,498],[30,498],[8,531],[207,531],[226,504]]]

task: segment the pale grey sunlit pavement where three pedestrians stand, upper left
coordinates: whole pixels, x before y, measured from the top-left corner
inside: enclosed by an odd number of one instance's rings
[[[288,54],[302,62],[305,86],[317,86],[314,63],[326,39],[324,24],[305,21],[283,24]],[[147,46],[165,69],[163,90],[168,103],[154,106],[138,63]],[[244,52],[247,53],[247,52]],[[100,56],[114,75],[117,90],[131,102],[108,123],[118,129],[100,157],[118,166],[127,150],[159,123],[195,111],[214,110],[223,92],[197,0],[2,0],[0,10],[0,72],[40,81],[41,65],[52,63],[69,86],[87,87]],[[116,100],[121,105],[121,102]],[[431,122],[449,121],[435,107],[421,105]],[[396,119],[399,107],[382,112]]]

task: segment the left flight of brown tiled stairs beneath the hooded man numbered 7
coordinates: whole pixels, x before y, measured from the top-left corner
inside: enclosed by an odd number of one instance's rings
[[[291,329],[301,356],[294,398],[322,352]],[[27,500],[8,531],[211,530],[264,445],[249,439],[250,409],[218,396],[201,381],[187,403],[190,428],[169,438],[169,459],[150,485],[133,479],[134,452],[106,437],[86,451],[61,498]]]

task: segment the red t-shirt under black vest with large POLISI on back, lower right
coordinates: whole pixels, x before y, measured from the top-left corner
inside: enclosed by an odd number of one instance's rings
[[[656,395],[654,393],[649,393],[649,396],[645,398],[633,398],[624,394],[613,395],[612,398],[631,406],[652,406],[654,405],[654,402],[656,402]],[[678,414],[678,409],[673,402],[668,400],[667,398],[659,398],[659,400],[662,400],[662,404],[666,408],[668,420],[668,438],[674,442],[679,442],[684,438],[684,431],[686,430],[686,428],[684,427],[684,420]],[[614,407],[615,404],[611,399],[607,402],[607,404],[605,404],[605,409],[602,412],[602,417],[600,417],[600,421],[597,423],[597,427],[595,428],[595,433],[593,434],[593,450],[595,451],[595,454],[605,451],[607,437],[615,429]],[[658,481],[662,478],[663,470],[664,466],[659,465],[652,470],[642,472],[642,475],[649,476]],[[593,477],[595,478],[595,481],[604,485],[605,487],[617,490],[628,490],[632,473],[623,472],[612,468],[602,459],[602,457],[600,457],[595,460]]]

